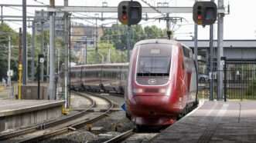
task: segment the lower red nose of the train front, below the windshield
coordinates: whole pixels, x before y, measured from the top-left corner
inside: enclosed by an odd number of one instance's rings
[[[136,125],[170,125],[176,113],[167,95],[133,95],[131,120]]]

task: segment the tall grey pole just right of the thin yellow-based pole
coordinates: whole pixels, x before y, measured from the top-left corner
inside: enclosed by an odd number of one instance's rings
[[[22,28],[23,28],[23,34],[22,34],[22,48],[23,48],[23,60],[22,60],[22,84],[26,85],[26,71],[27,71],[27,62],[26,62],[26,0],[22,0]]]

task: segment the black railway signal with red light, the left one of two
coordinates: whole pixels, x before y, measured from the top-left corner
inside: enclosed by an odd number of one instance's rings
[[[123,25],[137,25],[142,20],[142,5],[134,1],[120,2],[118,20]]]

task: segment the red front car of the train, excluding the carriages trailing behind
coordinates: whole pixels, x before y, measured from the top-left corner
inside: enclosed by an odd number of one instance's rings
[[[179,42],[152,39],[133,48],[127,116],[136,125],[169,125],[197,104],[193,52]]]

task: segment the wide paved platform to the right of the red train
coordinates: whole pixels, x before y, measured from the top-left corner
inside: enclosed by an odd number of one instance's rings
[[[152,142],[256,142],[256,101],[207,101]]]

